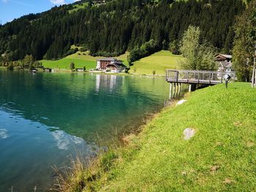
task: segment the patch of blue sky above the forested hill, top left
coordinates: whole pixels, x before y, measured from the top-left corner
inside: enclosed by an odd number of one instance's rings
[[[10,22],[29,13],[44,12],[60,4],[70,4],[78,0],[0,0],[0,23]]]

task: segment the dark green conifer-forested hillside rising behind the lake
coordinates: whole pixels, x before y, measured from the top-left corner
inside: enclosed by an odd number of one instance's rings
[[[110,56],[151,39],[154,50],[175,50],[191,24],[200,27],[202,41],[229,53],[236,15],[245,9],[242,0],[115,0],[101,5],[88,1],[83,9],[70,11],[74,6],[53,7],[0,26],[0,54],[7,53],[10,61],[30,54],[37,60],[53,59],[79,45],[91,55]]]

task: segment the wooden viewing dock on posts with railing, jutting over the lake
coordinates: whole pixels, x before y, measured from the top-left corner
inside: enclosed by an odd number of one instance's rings
[[[194,91],[197,85],[216,85],[225,82],[225,74],[229,74],[231,80],[236,79],[235,72],[167,69],[165,78],[170,82],[170,99],[181,91],[181,83],[189,84],[189,91]]]

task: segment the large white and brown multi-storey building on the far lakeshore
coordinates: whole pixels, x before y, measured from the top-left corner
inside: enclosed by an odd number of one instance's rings
[[[100,58],[97,59],[97,70],[109,71],[113,73],[123,72],[127,69],[122,61],[119,61],[117,58]]]

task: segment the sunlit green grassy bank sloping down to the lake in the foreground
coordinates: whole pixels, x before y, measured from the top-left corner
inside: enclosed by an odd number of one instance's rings
[[[255,95],[240,82],[195,91],[69,183],[75,191],[253,191]],[[185,128],[194,128],[195,137],[185,141]]]

